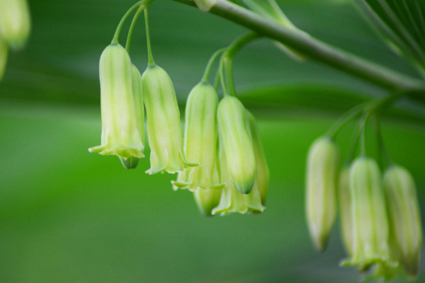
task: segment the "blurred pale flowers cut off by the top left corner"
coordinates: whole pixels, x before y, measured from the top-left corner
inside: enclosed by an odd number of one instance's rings
[[[0,80],[6,68],[8,49],[21,50],[30,28],[26,0],[0,0]]]

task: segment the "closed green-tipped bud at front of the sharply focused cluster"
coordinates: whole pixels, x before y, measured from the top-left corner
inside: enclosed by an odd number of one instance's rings
[[[235,97],[223,98],[218,105],[217,120],[230,180],[239,192],[248,194],[254,186],[256,161],[244,105]]]

